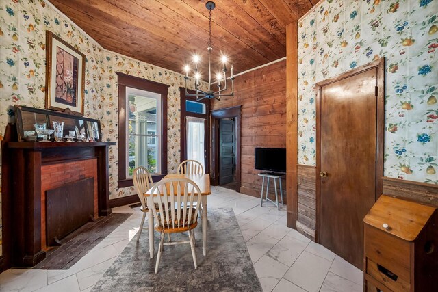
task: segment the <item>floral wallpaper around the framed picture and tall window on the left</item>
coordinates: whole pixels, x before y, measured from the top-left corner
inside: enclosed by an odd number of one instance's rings
[[[6,124],[14,120],[14,116],[10,116],[14,105],[44,108],[46,30],[86,55],[84,116],[101,120],[103,140],[114,142],[118,138],[116,72],[170,85],[167,96],[168,172],[176,172],[180,159],[179,87],[183,86],[183,75],[103,49],[51,3],[43,0],[0,3],[0,140]],[[133,194],[132,187],[119,189],[117,181],[118,145],[110,147],[110,199]]]

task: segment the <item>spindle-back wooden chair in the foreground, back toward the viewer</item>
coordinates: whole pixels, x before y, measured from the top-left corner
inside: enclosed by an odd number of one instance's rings
[[[201,202],[201,191],[198,185],[188,178],[166,178],[153,186],[151,194],[154,194],[154,200],[159,207],[158,210],[152,210],[155,218],[155,231],[161,234],[157,262],[155,263],[155,274],[158,272],[163,245],[190,243],[194,268],[196,269],[198,263],[196,262],[194,250],[194,228],[198,225],[198,207]],[[174,208],[162,207],[168,204]],[[184,232],[188,232],[188,241],[164,243],[166,233]]]

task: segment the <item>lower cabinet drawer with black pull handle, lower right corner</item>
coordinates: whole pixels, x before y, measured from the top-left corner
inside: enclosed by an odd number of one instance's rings
[[[374,263],[370,258],[367,258],[366,261],[366,274],[372,276],[372,278],[376,279],[378,282],[383,283],[392,291],[409,291],[409,288],[411,287],[409,282],[403,280],[397,274],[394,274],[390,269]]]

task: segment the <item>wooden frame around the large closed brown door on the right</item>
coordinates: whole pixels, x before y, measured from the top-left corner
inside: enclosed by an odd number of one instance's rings
[[[324,85],[337,82],[361,72],[376,68],[377,87],[376,87],[376,198],[381,196],[383,191],[383,142],[385,138],[385,58],[377,59],[353,70],[349,70],[336,77],[318,82],[316,88],[316,230],[315,242],[320,243],[320,171],[321,171],[321,88]]]

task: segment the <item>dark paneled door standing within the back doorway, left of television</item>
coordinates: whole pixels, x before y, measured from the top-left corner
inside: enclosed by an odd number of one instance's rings
[[[235,121],[221,119],[219,122],[219,184],[234,181],[235,168]]]

